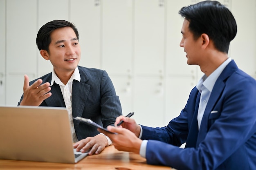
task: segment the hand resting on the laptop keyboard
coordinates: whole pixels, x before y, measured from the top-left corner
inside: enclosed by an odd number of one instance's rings
[[[87,137],[79,142],[76,142],[73,146],[76,151],[81,151],[82,153],[87,152],[90,148],[89,155],[94,153],[99,154],[108,145],[108,139],[102,135],[98,134],[94,137]]]

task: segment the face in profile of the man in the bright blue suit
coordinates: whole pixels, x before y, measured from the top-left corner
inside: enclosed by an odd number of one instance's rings
[[[182,25],[182,40],[180,46],[184,48],[187,57],[187,64],[200,65],[200,38],[195,40],[193,33],[189,30],[189,21],[184,19]]]

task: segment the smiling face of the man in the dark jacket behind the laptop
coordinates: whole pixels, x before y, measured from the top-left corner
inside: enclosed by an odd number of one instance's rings
[[[81,57],[74,30],[70,27],[56,29],[52,32],[51,39],[45,60],[51,61],[57,75],[73,73]]]

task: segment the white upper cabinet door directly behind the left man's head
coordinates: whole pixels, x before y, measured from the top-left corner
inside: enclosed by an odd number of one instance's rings
[[[38,0],[38,25],[37,31],[52,20],[68,20],[69,0]],[[35,39],[36,40],[36,39]],[[35,40],[33,42],[35,42]],[[50,73],[53,66],[49,60],[45,60],[37,50],[38,77]]]

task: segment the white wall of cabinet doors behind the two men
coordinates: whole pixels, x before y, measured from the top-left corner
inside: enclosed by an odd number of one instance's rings
[[[201,77],[179,46],[181,7],[199,0],[0,0],[0,105],[16,106],[23,75],[52,71],[36,47],[38,29],[55,19],[79,30],[79,65],[108,72],[124,115],[164,126],[180,114]],[[256,1],[220,0],[234,14],[238,34],[229,55],[256,78]]]

